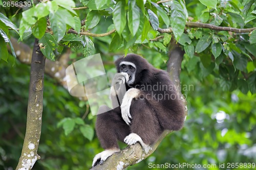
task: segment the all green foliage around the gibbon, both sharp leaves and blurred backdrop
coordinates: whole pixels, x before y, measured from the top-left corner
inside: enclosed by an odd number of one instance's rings
[[[3,2],[7,1],[0,0],[0,6]],[[106,71],[113,70],[119,54],[131,52],[166,69],[170,44],[177,40],[185,51],[181,72],[181,89],[188,103],[185,126],[167,136],[152,156],[128,169],[148,169],[148,163],[166,162],[217,165],[207,169],[224,169],[219,163],[225,163],[225,168],[228,163],[256,163],[256,31],[185,27],[187,21],[256,27],[256,1],[157,2],[54,0],[15,15],[11,7],[0,8],[0,168],[15,168],[26,128],[29,66],[19,61],[12,66],[16,56],[11,36],[30,45],[34,37],[39,38],[41,51],[50,60],[57,60],[67,47],[72,49],[73,61],[100,53],[110,63],[105,65]],[[75,6],[88,8],[72,9]],[[168,27],[172,27],[168,33],[158,30]],[[104,37],[67,34],[71,28],[98,34],[116,32]],[[34,169],[88,169],[94,155],[102,151],[88,103],[73,98],[47,76],[42,120],[41,160]],[[236,169],[249,169],[243,167]]]

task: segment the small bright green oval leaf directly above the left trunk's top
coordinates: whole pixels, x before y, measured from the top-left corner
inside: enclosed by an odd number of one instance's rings
[[[46,27],[47,27],[47,20],[46,18],[40,18],[34,26],[32,26],[32,33],[33,35],[40,39],[42,36],[45,35],[46,32]]]

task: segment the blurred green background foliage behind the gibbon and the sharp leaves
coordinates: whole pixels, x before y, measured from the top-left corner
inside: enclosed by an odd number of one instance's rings
[[[89,1],[81,1],[83,4],[86,2]],[[204,1],[184,2],[192,21],[223,27],[256,27],[255,1],[221,0],[216,6],[217,10],[203,5],[201,2]],[[82,6],[81,3],[76,1],[76,6]],[[245,12],[244,9],[250,3],[250,8]],[[149,4],[150,1],[146,8],[157,13],[157,9]],[[170,17],[170,11],[163,5],[161,8]],[[90,11],[78,10],[77,13],[83,19]],[[105,14],[101,10],[97,15],[100,21],[91,32],[104,33],[113,28],[112,16],[106,17]],[[17,14],[11,19],[18,25],[21,17]],[[159,27],[168,27],[162,17],[159,17]],[[17,34],[10,34],[18,38]],[[92,53],[101,54],[107,72],[113,71],[117,57],[131,52],[144,56],[155,67],[166,70],[167,44],[170,38],[175,39],[173,34],[160,34],[151,28],[145,43],[141,43],[138,37],[138,41],[130,40],[127,37],[129,34],[129,30],[123,33],[122,41],[114,39],[115,35],[91,37],[95,47]],[[163,37],[150,41],[160,35]],[[29,37],[24,42],[32,46],[33,39]],[[128,169],[149,169],[148,163],[166,162],[201,165],[256,163],[256,43],[250,43],[249,39],[248,33],[186,28],[178,43],[186,51],[180,76],[181,89],[188,107],[185,126],[181,131],[169,134],[150,157]],[[123,43],[131,44],[123,47]],[[221,45],[220,54],[214,46],[216,44]],[[64,47],[62,53],[65,50],[67,47]],[[193,51],[197,52],[196,55]],[[57,57],[60,55],[56,54]],[[72,61],[83,57],[82,48],[72,48]],[[13,67],[12,62],[0,60],[0,169],[14,169],[22,151],[29,72],[29,65],[16,61]],[[45,77],[44,113],[38,149],[41,159],[33,169],[89,169],[95,154],[102,151],[94,134],[96,117],[91,115],[88,102],[73,98],[56,80],[48,75]],[[124,144],[121,146],[125,147]]]

